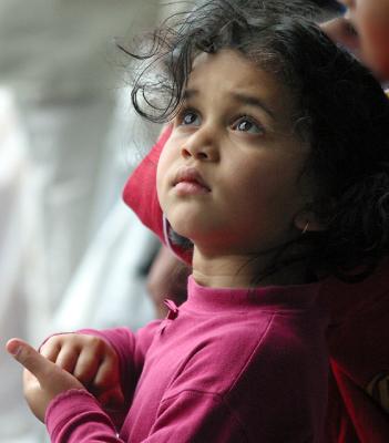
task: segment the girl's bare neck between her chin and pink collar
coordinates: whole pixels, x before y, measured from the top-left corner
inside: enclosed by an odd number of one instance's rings
[[[267,259],[268,261],[268,259]],[[217,288],[252,288],[306,284],[301,262],[295,262],[260,278],[266,262],[246,255],[206,256],[196,248],[193,255],[193,277],[197,284]]]

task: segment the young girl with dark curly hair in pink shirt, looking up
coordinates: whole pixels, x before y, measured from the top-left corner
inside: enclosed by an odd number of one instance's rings
[[[272,4],[214,0],[155,35],[157,74],[133,97],[171,121],[158,223],[193,253],[188,300],[136,334],[54,336],[41,354],[8,343],[53,442],[328,440],[317,280],[361,278],[388,253],[389,104]]]

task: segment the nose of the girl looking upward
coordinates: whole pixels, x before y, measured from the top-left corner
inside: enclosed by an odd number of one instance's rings
[[[196,131],[184,142],[181,154],[184,158],[217,161],[218,148],[215,134],[202,130]]]

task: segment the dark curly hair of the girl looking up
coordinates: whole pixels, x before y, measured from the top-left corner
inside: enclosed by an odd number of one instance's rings
[[[303,17],[303,3],[212,0],[171,17],[151,45],[129,52],[145,63],[132,101],[145,119],[170,121],[201,52],[233,49],[276,75],[296,99],[295,130],[311,146],[304,173],[317,190],[307,209],[326,226],[295,240],[307,248],[293,259],[351,281],[388,255],[389,101],[365,66]],[[273,270],[290,261],[289,246]]]

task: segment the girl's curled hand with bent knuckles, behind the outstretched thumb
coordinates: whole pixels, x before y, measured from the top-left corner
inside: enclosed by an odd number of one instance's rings
[[[82,333],[52,336],[40,353],[73,374],[104,408],[123,405],[119,359],[103,339]]]

